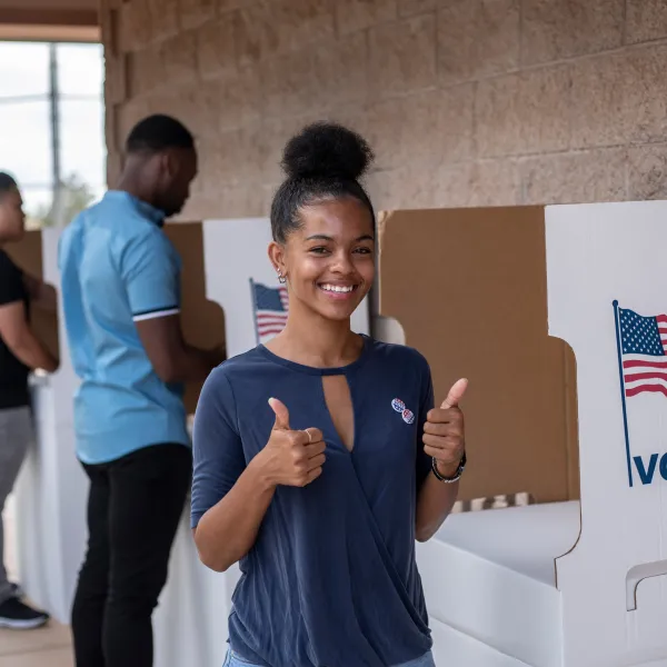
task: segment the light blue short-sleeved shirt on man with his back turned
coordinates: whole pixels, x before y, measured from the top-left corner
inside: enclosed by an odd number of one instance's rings
[[[189,446],[182,387],[165,384],[136,321],[180,309],[180,257],[162,211],[109,191],[63,231],[58,263],[72,364],[77,454],[102,464],[165,442]]]

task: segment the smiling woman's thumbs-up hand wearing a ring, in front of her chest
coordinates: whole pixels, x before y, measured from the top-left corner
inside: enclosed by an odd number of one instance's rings
[[[322,474],[326,460],[322,431],[318,428],[291,430],[285,404],[271,398],[269,405],[276,421],[261,452],[266,474],[273,485],[305,487]]]

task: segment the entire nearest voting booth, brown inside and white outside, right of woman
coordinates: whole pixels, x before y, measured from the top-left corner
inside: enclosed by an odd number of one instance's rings
[[[535,501],[454,515],[418,546],[437,661],[667,665],[666,216],[385,216],[380,313],[429,359],[437,400],[470,378],[462,497]]]

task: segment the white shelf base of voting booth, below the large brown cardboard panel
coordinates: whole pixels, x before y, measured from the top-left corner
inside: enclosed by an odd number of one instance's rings
[[[474,651],[460,665],[490,667],[492,661],[472,661],[481,644],[489,655],[520,665],[563,666],[555,560],[578,532],[579,504],[551,502],[455,514],[429,542],[418,545],[431,619],[454,633],[449,640],[460,644],[459,651]],[[437,649],[445,655],[449,645]]]

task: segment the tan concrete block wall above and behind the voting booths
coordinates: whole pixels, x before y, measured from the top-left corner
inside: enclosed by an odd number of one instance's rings
[[[667,198],[665,0],[102,0],[109,180],[131,126],[197,136],[182,217],[265,215],[334,119],[378,209]]]

